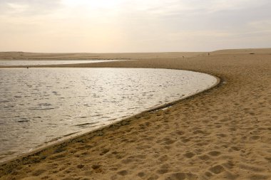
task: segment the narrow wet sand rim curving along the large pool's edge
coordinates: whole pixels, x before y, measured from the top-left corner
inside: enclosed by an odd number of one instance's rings
[[[103,63],[103,62],[101,62],[101,63]],[[71,64],[71,65],[72,65],[72,64]],[[80,64],[78,64],[78,65],[80,65]],[[41,65],[41,66],[42,66],[42,65]],[[50,65],[49,65],[49,66],[50,66]],[[7,67],[7,68],[13,68],[13,67]],[[19,68],[26,68],[26,67],[19,67]],[[33,68],[41,68],[41,67],[33,67]],[[54,67],[54,68],[59,68],[59,67]],[[72,67],[70,67],[70,68],[72,68]],[[163,68],[156,68],[156,69],[163,69]],[[171,70],[180,70],[180,69],[171,69]],[[185,71],[191,71],[191,70],[185,70]],[[200,72],[197,72],[197,71],[191,71],[191,72],[200,73]],[[203,73],[203,74],[206,74],[206,73]],[[16,156],[11,156],[10,159],[6,159],[5,161],[0,162],[0,166],[3,165],[3,164],[9,164],[9,163],[12,163],[12,162],[14,162],[14,161],[16,161],[16,160],[18,160],[18,159],[23,159],[24,157],[34,156],[34,155],[37,154],[37,153],[40,153],[40,152],[42,152],[42,151],[44,151],[44,150],[46,150],[46,149],[52,148],[52,147],[56,147],[56,146],[61,145],[61,144],[63,144],[63,143],[68,143],[68,142],[71,142],[71,141],[76,141],[76,139],[78,139],[78,138],[80,138],[80,137],[83,137],[83,136],[85,136],[85,135],[89,135],[89,134],[92,134],[92,133],[95,133],[95,132],[98,132],[98,131],[103,131],[103,129],[107,129],[108,127],[111,127],[111,126],[113,126],[113,125],[121,124],[121,122],[126,121],[126,120],[128,121],[128,120],[132,119],[133,117],[136,117],[136,116],[138,116],[138,115],[141,115],[141,114],[143,114],[143,113],[145,113],[145,112],[153,112],[153,111],[155,111],[155,110],[160,110],[160,109],[163,109],[163,108],[165,108],[165,107],[170,107],[171,105],[177,104],[177,103],[180,102],[181,100],[185,100],[185,99],[187,99],[187,98],[189,98],[189,97],[192,97],[192,96],[194,96],[194,95],[198,95],[198,94],[200,94],[201,92],[205,92],[205,91],[207,91],[207,90],[210,90],[210,89],[212,89],[212,88],[215,88],[215,86],[217,86],[217,85],[220,84],[220,78],[218,78],[218,77],[215,76],[215,75],[211,75],[211,76],[213,76],[214,78],[216,78],[216,82],[215,82],[213,85],[211,85],[210,87],[206,88],[205,90],[200,90],[200,91],[195,92],[195,93],[193,93],[193,94],[191,94],[191,95],[188,95],[188,96],[185,96],[185,97],[181,97],[181,98],[178,99],[178,100],[174,100],[174,101],[172,101],[172,102],[168,102],[168,103],[165,103],[165,104],[163,104],[163,105],[158,105],[158,106],[156,106],[156,107],[150,107],[150,108],[148,108],[148,109],[146,109],[146,110],[143,110],[142,112],[136,113],[135,115],[131,115],[131,116],[126,117],[126,118],[124,118],[124,119],[121,119],[121,118],[120,118],[120,120],[117,120],[117,121],[115,121],[115,122],[113,122],[113,123],[111,123],[111,124],[104,125],[104,126],[102,126],[102,127],[98,127],[97,129],[92,129],[91,131],[88,131],[88,132],[78,132],[78,133],[76,133],[76,135],[74,135],[74,136],[71,135],[71,136],[68,136],[67,138],[65,138],[65,136],[64,136],[64,137],[62,137],[61,139],[58,139],[58,140],[56,140],[56,141],[52,141],[52,142],[50,141],[50,142],[49,142],[48,144],[46,144],[46,145],[41,144],[41,146],[39,146],[39,147],[37,147],[37,148],[35,148],[35,149],[29,151],[29,152],[21,153],[21,154],[16,155]]]

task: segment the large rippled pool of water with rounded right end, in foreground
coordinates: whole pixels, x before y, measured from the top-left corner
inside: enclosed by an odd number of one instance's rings
[[[0,69],[0,161],[95,129],[216,83],[165,69]]]

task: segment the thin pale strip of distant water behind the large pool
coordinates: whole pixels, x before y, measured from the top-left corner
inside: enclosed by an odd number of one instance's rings
[[[78,64],[101,63],[116,60],[0,60],[0,65],[53,65],[53,64]]]

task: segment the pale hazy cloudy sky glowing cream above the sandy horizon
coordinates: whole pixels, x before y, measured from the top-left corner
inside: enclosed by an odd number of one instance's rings
[[[271,48],[270,0],[0,0],[0,51]]]

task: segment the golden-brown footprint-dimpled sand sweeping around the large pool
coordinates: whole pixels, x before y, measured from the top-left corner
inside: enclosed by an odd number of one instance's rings
[[[195,70],[221,83],[2,164],[0,179],[271,179],[271,49],[76,66]]]

